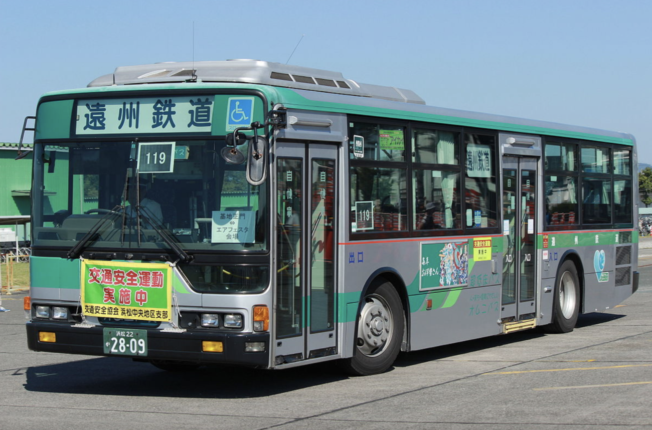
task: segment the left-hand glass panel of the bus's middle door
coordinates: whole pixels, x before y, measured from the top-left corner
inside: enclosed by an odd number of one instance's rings
[[[503,305],[516,302],[516,179],[516,170],[503,169]]]

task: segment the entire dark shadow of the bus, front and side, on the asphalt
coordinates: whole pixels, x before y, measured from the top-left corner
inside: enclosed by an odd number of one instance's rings
[[[588,313],[580,315],[577,328],[609,323],[625,316]],[[398,356],[394,368],[444,360],[542,336],[548,335],[541,329],[526,330],[507,336],[484,337],[421,351],[404,352]],[[277,371],[205,366],[194,371],[172,373],[157,369],[148,363],[115,357],[29,367],[26,373],[25,390],[32,392],[198,399],[265,397],[349,378],[335,362]]]

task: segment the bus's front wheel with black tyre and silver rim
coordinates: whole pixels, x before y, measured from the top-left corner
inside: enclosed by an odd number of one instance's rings
[[[361,305],[355,351],[344,366],[353,375],[374,375],[386,371],[400,351],[403,306],[389,282],[370,289]]]

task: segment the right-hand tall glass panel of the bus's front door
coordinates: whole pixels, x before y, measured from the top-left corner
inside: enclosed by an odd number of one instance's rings
[[[333,330],[334,192],[333,160],[312,160],[310,218],[310,331]]]

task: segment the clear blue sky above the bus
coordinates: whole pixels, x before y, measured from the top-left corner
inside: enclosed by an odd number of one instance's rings
[[[286,63],[304,35],[291,64],[411,89],[432,106],[630,132],[639,161],[652,164],[652,1],[0,0],[0,7],[3,142],[18,141],[42,93],[85,87],[116,66],[193,56]]]

